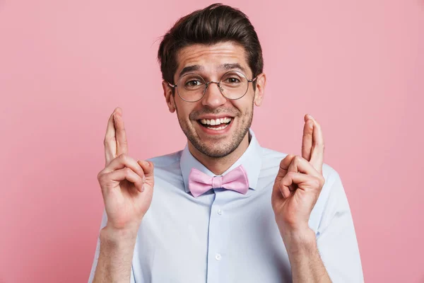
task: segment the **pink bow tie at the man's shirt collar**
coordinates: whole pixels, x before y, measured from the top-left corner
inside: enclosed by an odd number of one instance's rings
[[[189,189],[194,197],[204,194],[208,190],[223,187],[227,190],[235,190],[243,195],[249,190],[249,180],[245,168],[242,165],[232,169],[223,176],[211,177],[192,168],[189,174]]]

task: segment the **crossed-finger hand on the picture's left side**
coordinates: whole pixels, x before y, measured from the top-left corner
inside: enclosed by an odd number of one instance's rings
[[[105,168],[98,173],[107,214],[107,229],[136,233],[153,197],[153,163],[128,156],[122,109],[107,122]]]

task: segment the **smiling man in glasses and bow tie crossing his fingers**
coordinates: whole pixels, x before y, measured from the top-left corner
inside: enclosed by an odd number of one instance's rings
[[[114,110],[89,282],[363,282],[318,122],[305,115],[302,156],[262,148],[250,129],[266,76],[245,14],[214,4],[181,18],[158,58],[187,146],[136,161]]]

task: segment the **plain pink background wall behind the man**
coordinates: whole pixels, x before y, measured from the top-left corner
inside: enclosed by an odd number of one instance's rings
[[[262,146],[300,154],[311,113],[351,204],[366,282],[424,282],[424,1],[228,1],[264,47]],[[155,55],[208,1],[0,0],[0,282],[86,282],[107,119],[129,154],[185,144]]]

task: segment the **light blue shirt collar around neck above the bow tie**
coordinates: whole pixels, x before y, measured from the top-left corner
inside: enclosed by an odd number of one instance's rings
[[[262,161],[262,148],[259,145],[257,138],[254,135],[252,129],[249,129],[249,134],[252,139],[249,142],[249,146],[247,146],[246,151],[240,156],[240,158],[235,161],[234,164],[227,171],[225,171],[222,175],[225,175],[232,169],[237,166],[242,165],[245,168],[247,173],[247,179],[249,180],[249,188],[252,190],[256,190],[259,172],[261,171],[261,161]],[[182,179],[184,180],[184,190],[189,192],[189,173],[192,171],[192,168],[196,168],[197,170],[205,173],[206,175],[210,175],[211,177],[216,176],[213,174],[206,166],[200,163],[192,153],[189,151],[188,144],[182,150],[181,158],[179,160],[181,166]]]

